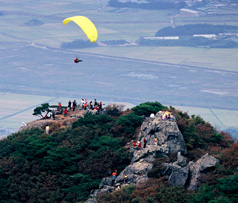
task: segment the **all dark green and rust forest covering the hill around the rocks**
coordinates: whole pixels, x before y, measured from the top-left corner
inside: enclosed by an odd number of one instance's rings
[[[85,201],[109,168],[120,173],[129,164],[125,146],[135,139],[144,118],[165,109],[176,117],[188,150],[186,158],[198,160],[209,153],[219,164],[202,176],[199,191],[188,192],[172,187],[166,176],[158,176],[162,163],[173,160],[174,155],[158,156],[147,182],[102,195],[98,202],[238,202],[237,141],[200,116],[190,117],[159,102],[126,111],[111,105],[104,114],[88,113],[51,134],[33,128],[1,140],[0,202]]]

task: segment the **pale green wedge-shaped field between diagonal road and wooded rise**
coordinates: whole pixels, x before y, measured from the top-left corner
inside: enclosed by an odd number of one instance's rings
[[[192,47],[97,47],[81,52],[106,54],[177,65],[197,66],[208,69],[238,71],[237,49],[207,49]]]

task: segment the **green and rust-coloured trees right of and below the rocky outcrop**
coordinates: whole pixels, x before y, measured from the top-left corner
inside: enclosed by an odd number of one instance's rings
[[[141,111],[143,110],[141,107],[145,104],[140,104],[135,109],[138,108]],[[155,103],[151,104],[155,105]],[[238,144],[228,133],[217,132],[200,116],[192,115],[190,117],[187,113],[171,106],[169,111],[175,115],[179,129],[184,135],[188,160],[195,161],[205,153],[209,153],[217,157],[220,163],[201,176],[199,191],[189,192],[183,187],[172,187],[168,183],[168,177],[160,173],[164,168],[163,163],[176,160],[174,154],[169,157],[158,154],[153,163],[153,169],[148,174],[150,179],[147,182],[137,187],[130,186],[131,190],[129,191],[125,187],[112,194],[104,194],[99,198],[100,203],[237,202],[238,175],[234,175],[234,173],[238,167]]]

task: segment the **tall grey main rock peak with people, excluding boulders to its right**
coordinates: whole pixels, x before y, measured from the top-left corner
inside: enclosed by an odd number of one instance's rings
[[[144,139],[147,140],[144,146]],[[153,161],[157,153],[186,154],[186,145],[183,135],[178,129],[175,120],[162,120],[162,112],[157,113],[154,118],[146,118],[141,125],[138,141],[142,147],[130,148],[131,164],[127,166],[116,178],[116,182],[122,183],[124,176],[128,176],[130,183],[138,184],[148,179],[148,172],[153,168]]]

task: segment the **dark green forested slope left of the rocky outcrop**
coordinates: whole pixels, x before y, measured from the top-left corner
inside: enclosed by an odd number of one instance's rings
[[[115,123],[111,116],[87,114],[49,136],[35,128],[2,140],[0,202],[86,200],[109,168],[121,171],[129,163]]]

